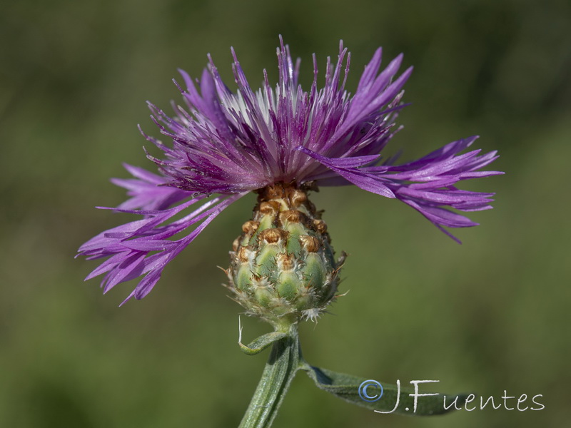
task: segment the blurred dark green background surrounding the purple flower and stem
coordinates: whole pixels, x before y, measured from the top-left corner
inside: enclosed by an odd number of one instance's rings
[[[283,34],[312,78],[343,39],[348,88],[378,46],[415,72],[390,144],[403,160],[458,138],[499,150],[497,192],[457,245],[414,210],[358,188],[324,188],[333,244],[350,254],[333,315],[301,331],[314,365],[385,382],[440,379],[438,392],[543,394],[545,409],[445,417],[380,415],[299,374],[275,427],[536,427],[570,417],[571,4],[568,1],[3,1],[0,6],[0,426],[234,427],[267,358],[236,345],[241,307],[217,265],[254,198],[228,208],[165,270],[118,304],[74,260],[127,220],[121,163],[146,166],[136,124],[168,108],[176,68],[213,55],[228,83],[234,46],[253,85],[276,77]],[[252,340],[266,325],[242,318]],[[428,390],[428,389],[425,389]],[[529,401],[529,400],[528,400]]]

